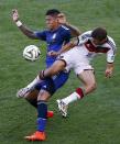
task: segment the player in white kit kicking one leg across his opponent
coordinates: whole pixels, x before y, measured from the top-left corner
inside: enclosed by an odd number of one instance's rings
[[[105,75],[107,78],[112,76],[116,44],[113,40],[107,35],[105,29],[97,27],[94,31],[85,32],[78,36],[77,41],[66,44],[58,53],[53,52],[54,56],[58,54],[61,55],[57,60],[50,68],[42,70],[40,77],[44,79],[54,76],[64,68],[66,70],[73,68],[77,77],[81,80],[83,87],[76,88],[68,97],[57,100],[62,115],[66,117],[67,108],[70,102],[83,99],[86,95],[96,89],[94,68],[90,65],[90,60],[95,56],[107,54]]]

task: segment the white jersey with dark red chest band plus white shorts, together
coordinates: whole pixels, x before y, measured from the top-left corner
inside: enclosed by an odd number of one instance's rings
[[[58,59],[66,63],[66,70],[74,69],[76,75],[79,75],[84,70],[94,69],[89,64],[90,60],[102,53],[107,54],[108,63],[113,63],[116,52],[113,40],[108,36],[102,45],[94,45],[91,40],[91,31],[88,31],[78,37],[77,46],[59,55]]]

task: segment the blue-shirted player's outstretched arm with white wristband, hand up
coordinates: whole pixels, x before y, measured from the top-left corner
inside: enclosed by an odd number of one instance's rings
[[[21,32],[26,35],[30,38],[37,38],[37,36],[35,35],[34,31],[31,31],[30,29],[28,29],[26,26],[24,26],[22,24],[22,22],[19,20],[19,13],[18,10],[13,10],[12,11],[12,19],[15,22],[15,24],[18,25],[18,27],[21,30]]]

